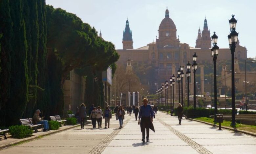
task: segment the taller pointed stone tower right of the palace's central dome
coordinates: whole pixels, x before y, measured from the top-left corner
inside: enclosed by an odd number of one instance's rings
[[[201,40],[201,48],[209,49],[211,48],[211,36],[210,31],[208,30],[207,20],[204,19],[203,30],[202,30],[202,40]]]

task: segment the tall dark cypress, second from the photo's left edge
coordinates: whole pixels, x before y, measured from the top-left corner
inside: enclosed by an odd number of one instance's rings
[[[23,17],[23,1],[10,1],[13,38],[11,39],[11,86],[6,105],[6,125],[15,125],[24,114],[28,102],[28,67],[26,26]]]

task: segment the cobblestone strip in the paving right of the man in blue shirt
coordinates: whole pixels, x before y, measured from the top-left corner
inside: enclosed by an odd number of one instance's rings
[[[188,145],[190,145],[192,148],[194,148],[198,153],[200,154],[212,154],[210,151],[208,151],[203,146],[197,144],[184,134],[180,133],[178,130],[174,129],[172,126],[166,124],[164,121],[157,118],[157,120],[164,126],[166,126],[169,130],[171,130],[175,135],[177,135],[182,141],[186,142]]]

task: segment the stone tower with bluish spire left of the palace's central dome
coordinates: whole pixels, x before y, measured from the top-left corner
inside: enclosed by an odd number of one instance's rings
[[[125,29],[123,31],[123,49],[133,49],[132,31],[129,27],[129,21],[126,20]]]

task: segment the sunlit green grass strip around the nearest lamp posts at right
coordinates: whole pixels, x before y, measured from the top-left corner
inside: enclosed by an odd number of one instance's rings
[[[214,119],[213,118],[207,118],[207,117],[200,117],[200,118],[195,118],[196,120],[200,120],[200,121],[204,121],[207,123],[211,123],[214,124]],[[219,125],[219,123],[215,123],[216,125]],[[245,130],[245,131],[249,131],[252,133],[256,133],[256,126],[255,125],[245,125],[245,124],[236,124],[235,127],[231,127],[230,126],[231,121],[223,121],[223,123],[221,124],[222,126],[226,126],[226,127],[230,127],[230,128],[235,128],[238,130]]]

